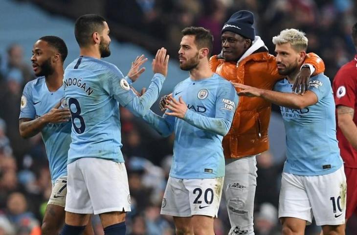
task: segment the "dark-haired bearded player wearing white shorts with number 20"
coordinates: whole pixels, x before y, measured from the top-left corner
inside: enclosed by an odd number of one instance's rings
[[[224,180],[222,139],[238,96],[233,85],[209,67],[209,30],[188,27],[182,34],[179,63],[189,77],[174,88],[163,117],[149,112],[144,119],[163,136],[175,133],[161,213],[174,216],[178,235],[214,235]]]

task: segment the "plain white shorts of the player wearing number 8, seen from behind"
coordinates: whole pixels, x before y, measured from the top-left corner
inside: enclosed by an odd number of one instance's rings
[[[67,171],[66,211],[81,214],[131,211],[124,163],[81,158],[68,164]]]

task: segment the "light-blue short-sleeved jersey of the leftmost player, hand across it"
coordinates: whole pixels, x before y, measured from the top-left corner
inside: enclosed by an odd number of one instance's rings
[[[32,80],[23,89],[20,118],[35,119],[41,117],[59,102],[62,102],[62,108],[67,107],[64,97],[63,87],[60,87],[56,92],[48,91],[45,77]],[[67,175],[67,154],[71,142],[70,132],[70,121],[48,123],[41,130],[52,183],[57,178]]]

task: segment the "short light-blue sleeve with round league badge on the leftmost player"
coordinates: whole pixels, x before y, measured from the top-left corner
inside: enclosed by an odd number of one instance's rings
[[[20,105],[20,118],[36,118],[36,110],[33,105],[32,98],[32,86],[31,83],[27,83],[23,88],[22,97],[21,97],[21,105]]]

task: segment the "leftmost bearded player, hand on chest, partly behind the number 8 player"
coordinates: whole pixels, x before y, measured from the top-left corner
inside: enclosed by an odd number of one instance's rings
[[[23,138],[42,134],[53,185],[41,227],[43,235],[58,234],[65,222],[67,154],[71,142],[70,113],[62,87],[66,57],[67,47],[61,38],[40,38],[31,57],[38,78],[26,84],[21,99],[20,134]],[[91,226],[87,226],[85,234],[93,234]]]

